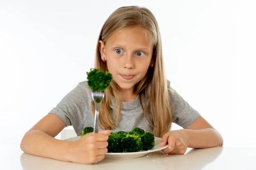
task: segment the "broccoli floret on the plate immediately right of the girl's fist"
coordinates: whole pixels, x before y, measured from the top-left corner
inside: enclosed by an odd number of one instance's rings
[[[108,136],[108,152],[110,153],[118,153],[123,152],[122,146],[121,146],[121,140],[126,136],[126,132],[119,131],[116,133],[111,133]]]

